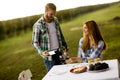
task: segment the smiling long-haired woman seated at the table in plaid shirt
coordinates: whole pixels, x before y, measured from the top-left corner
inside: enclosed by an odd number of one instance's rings
[[[79,41],[78,58],[70,58],[67,62],[87,62],[87,59],[101,57],[101,53],[106,49],[106,44],[100,34],[95,21],[87,21],[83,25],[83,37]]]

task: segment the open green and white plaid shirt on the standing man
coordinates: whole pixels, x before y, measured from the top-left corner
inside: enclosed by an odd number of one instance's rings
[[[56,17],[54,17],[54,22],[55,22],[56,34],[59,41],[58,42],[59,48],[67,48],[67,44],[65,42],[64,36],[60,29],[59,22]],[[42,54],[43,51],[51,50],[49,31],[43,17],[41,17],[33,25],[32,44],[36,48],[39,54]]]

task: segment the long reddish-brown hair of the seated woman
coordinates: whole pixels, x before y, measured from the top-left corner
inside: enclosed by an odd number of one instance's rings
[[[98,45],[98,42],[100,40],[102,40],[104,42],[104,40],[101,36],[100,30],[98,28],[98,25],[96,24],[95,21],[93,21],[93,20],[87,21],[85,24],[88,28],[89,34],[93,36],[93,39],[95,42],[95,47]],[[84,38],[84,41],[83,41],[82,49],[83,49],[83,52],[86,52],[90,48],[89,36],[86,36],[83,34],[83,38]],[[104,42],[103,50],[104,49],[106,49],[105,42]]]

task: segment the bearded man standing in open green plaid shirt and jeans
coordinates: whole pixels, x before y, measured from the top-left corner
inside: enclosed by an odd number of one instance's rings
[[[47,71],[53,65],[61,64],[62,50],[67,50],[67,44],[55,14],[56,6],[48,3],[45,6],[44,15],[33,25],[32,44],[43,57]],[[55,51],[54,55],[49,54],[52,50]]]

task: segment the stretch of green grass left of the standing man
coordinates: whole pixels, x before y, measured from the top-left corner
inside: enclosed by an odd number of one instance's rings
[[[46,73],[45,66],[42,58],[36,54],[32,47],[31,32],[1,41],[0,44],[0,80],[16,80],[18,74],[28,68],[32,71],[34,77],[39,79],[39,77],[44,76]],[[42,70],[43,74],[34,69]]]

